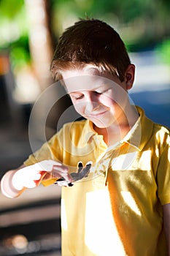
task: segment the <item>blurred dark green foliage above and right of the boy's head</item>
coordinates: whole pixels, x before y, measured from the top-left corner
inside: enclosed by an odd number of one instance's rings
[[[170,36],[169,0],[51,0],[51,3],[57,37],[78,18],[106,21],[120,32],[130,51],[155,48]]]

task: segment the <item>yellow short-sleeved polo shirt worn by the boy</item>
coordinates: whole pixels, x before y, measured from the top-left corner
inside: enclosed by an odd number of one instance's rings
[[[137,107],[139,119],[107,147],[90,121],[65,124],[25,165],[93,161],[88,178],[62,188],[63,256],[164,256],[162,205],[170,203],[169,129]],[[44,184],[53,184],[54,180]]]

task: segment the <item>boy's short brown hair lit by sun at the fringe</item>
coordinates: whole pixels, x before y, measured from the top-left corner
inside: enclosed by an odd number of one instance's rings
[[[61,71],[79,69],[94,64],[98,69],[116,74],[124,80],[131,61],[119,34],[101,20],[80,20],[63,32],[59,38],[50,70],[55,80]]]

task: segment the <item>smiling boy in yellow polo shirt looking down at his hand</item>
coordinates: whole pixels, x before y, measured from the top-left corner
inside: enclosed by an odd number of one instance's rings
[[[170,255],[169,130],[129,102],[135,67],[122,39],[101,20],[80,20],[61,36],[51,70],[85,120],[6,173],[2,192],[16,197],[64,178],[63,256]],[[79,169],[93,165],[74,182],[80,161]]]

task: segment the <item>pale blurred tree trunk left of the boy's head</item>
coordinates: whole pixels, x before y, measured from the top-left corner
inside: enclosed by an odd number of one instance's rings
[[[28,17],[28,36],[34,72],[41,91],[53,82],[50,62],[53,58],[53,39],[50,29],[49,0],[25,0]]]

